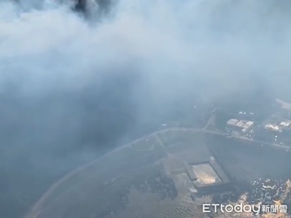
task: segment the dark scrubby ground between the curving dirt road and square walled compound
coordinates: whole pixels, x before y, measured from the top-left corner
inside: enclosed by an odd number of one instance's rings
[[[125,208],[129,203],[131,190],[137,190],[141,194],[154,193],[160,199],[173,199],[178,194],[173,181],[165,176],[161,165],[123,171],[122,175],[107,182],[104,182],[103,178],[100,180],[100,177],[92,175],[87,178],[87,181],[83,180],[80,186],[74,183],[73,188],[54,198],[54,202],[47,202],[47,206],[43,209],[43,216],[62,214],[65,218],[91,215],[98,218],[107,217]]]

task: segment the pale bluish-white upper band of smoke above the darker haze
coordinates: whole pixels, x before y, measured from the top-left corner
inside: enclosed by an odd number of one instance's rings
[[[154,89],[171,79],[188,87],[202,77],[210,86],[215,78],[222,93],[237,88],[246,74],[288,68],[290,25],[268,2],[123,0],[93,26],[53,0],[24,12],[1,4],[1,67],[9,77],[21,68],[29,79],[23,88],[31,92],[39,86],[80,88],[93,75],[134,59],[143,63],[139,70]]]

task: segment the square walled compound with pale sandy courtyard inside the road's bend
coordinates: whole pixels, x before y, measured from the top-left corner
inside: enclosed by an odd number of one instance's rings
[[[192,199],[231,188],[229,177],[213,156],[198,162],[172,156],[163,159],[162,163],[166,175],[174,180],[176,188],[179,190],[182,186],[181,191],[188,188]]]

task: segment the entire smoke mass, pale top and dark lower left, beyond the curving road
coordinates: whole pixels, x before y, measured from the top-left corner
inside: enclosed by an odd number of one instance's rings
[[[114,0],[89,20],[66,0],[13,2],[0,1],[0,169],[11,201],[18,189],[25,198],[20,183],[96,156],[86,143],[116,146],[174,99],[291,93],[288,0]]]

